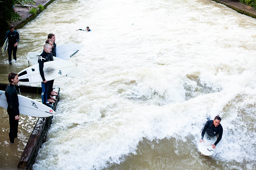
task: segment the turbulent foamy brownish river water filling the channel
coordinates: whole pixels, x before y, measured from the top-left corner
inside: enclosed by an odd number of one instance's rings
[[[86,26],[92,31],[76,31]],[[1,52],[7,83],[49,33],[57,48],[84,44],[70,61],[85,74],[54,81],[57,115],[33,169],[255,169],[255,27],[209,0],[55,0],[18,30],[17,63]],[[1,166],[11,167],[1,113]],[[207,115],[220,115],[223,127],[211,157],[197,149]],[[16,162],[36,122],[21,117]]]

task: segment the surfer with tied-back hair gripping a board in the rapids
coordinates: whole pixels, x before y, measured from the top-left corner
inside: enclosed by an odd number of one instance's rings
[[[217,115],[214,120],[209,120],[205,123],[204,129],[202,131],[202,138],[199,140],[199,143],[204,142],[204,134],[207,133],[208,136],[214,137],[218,136],[216,142],[214,144],[211,144],[212,148],[215,149],[216,145],[220,142],[223,134],[223,129],[220,124],[221,118],[219,115]]]

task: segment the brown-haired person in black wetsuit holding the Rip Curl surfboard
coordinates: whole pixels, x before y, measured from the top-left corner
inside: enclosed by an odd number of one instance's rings
[[[7,100],[7,113],[9,115],[10,131],[9,138],[11,144],[14,143],[14,138],[18,135],[18,125],[20,120],[20,111],[19,111],[19,99],[18,93],[15,88],[15,84],[19,82],[18,74],[10,73],[8,76],[10,82],[5,89],[5,96]]]

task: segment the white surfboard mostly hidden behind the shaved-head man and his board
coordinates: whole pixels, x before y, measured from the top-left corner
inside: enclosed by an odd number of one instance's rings
[[[39,55],[41,55],[41,54],[37,53],[37,52],[29,52],[27,55],[27,59],[30,63],[38,64],[37,61],[38,61]],[[56,61],[56,60],[62,60],[62,59],[53,57],[53,60]],[[83,74],[84,74],[84,72],[82,70],[80,70],[78,67],[76,67],[75,70],[71,71],[66,76],[67,77],[77,77],[77,76],[82,76]]]

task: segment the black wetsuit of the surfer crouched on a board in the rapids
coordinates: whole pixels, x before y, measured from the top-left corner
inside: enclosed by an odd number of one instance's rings
[[[213,122],[213,120],[210,120],[205,123],[204,129],[202,131],[202,139],[204,138],[205,132],[210,137],[214,137],[219,134],[218,139],[214,143],[214,145],[216,146],[220,142],[220,139],[222,138],[223,129],[222,129],[221,124],[219,124],[217,127],[215,127],[214,124],[212,124],[212,122]]]

